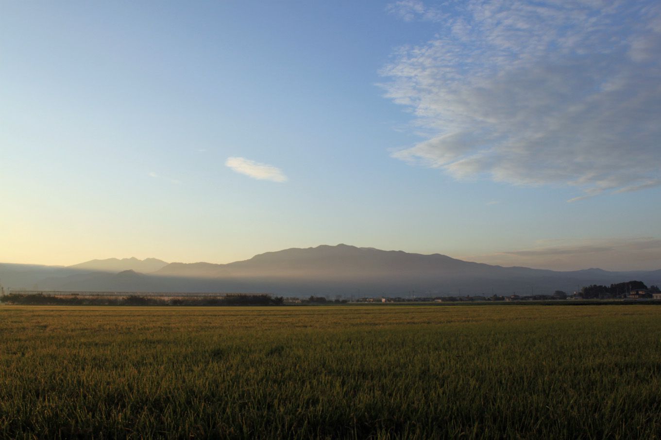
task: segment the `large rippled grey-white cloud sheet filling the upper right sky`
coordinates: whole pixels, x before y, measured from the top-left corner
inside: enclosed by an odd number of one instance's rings
[[[393,153],[455,178],[574,186],[661,185],[661,5],[418,0],[389,11],[438,22],[381,74],[427,139]]]

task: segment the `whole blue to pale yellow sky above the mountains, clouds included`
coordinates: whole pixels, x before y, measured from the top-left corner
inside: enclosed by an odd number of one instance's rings
[[[656,1],[2,1],[0,262],[661,268]]]

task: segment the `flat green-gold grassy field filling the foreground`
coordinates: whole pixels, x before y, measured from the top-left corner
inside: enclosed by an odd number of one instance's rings
[[[0,438],[661,437],[661,307],[0,307]]]

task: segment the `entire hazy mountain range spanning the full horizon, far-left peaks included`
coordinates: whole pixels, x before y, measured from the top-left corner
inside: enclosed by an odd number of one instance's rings
[[[128,270],[126,270],[128,268]],[[141,270],[140,270],[141,269]],[[151,273],[140,273],[151,272]],[[68,268],[0,264],[18,289],[154,292],[268,292],[277,295],[477,295],[574,291],[630,279],[661,283],[661,270],[557,272],[465,262],[441,254],[357,248],[291,248],[229,264],[167,264],[155,258],[93,260]]]

